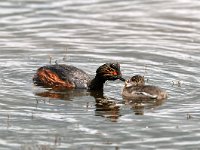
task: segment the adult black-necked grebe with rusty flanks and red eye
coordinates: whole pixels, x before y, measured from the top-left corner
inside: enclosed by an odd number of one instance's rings
[[[33,82],[39,86],[56,89],[84,88],[102,90],[107,80],[114,81],[117,79],[125,81],[122,78],[118,63],[106,63],[100,66],[92,80],[81,69],[64,64],[55,64],[39,68],[33,77]]]

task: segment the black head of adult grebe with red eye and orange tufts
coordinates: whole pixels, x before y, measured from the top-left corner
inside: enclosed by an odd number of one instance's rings
[[[104,80],[120,79],[121,81],[125,81],[122,78],[119,63],[106,63],[97,69],[96,74]]]

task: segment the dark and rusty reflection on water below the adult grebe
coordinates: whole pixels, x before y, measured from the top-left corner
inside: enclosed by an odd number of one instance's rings
[[[61,100],[73,100],[75,97],[92,96],[95,98],[95,115],[102,116],[112,122],[116,122],[120,117],[120,106],[117,105],[115,99],[104,96],[103,90],[100,91],[87,91],[84,89],[55,91],[49,89],[44,92],[37,92],[35,95],[40,97],[48,97]]]

